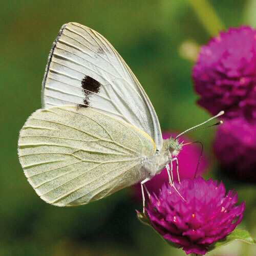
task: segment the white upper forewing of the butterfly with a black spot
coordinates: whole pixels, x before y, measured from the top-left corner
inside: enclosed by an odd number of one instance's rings
[[[153,138],[162,134],[152,103],[108,40],[77,23],[62,26],[42,82],[42,108],[77,105],[123,120]]]

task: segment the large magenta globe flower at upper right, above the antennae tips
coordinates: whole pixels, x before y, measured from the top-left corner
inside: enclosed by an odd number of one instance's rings
[[[216,115],[256,120],[256,30],[230,28],[202,46],[193,68],[198,103]]]

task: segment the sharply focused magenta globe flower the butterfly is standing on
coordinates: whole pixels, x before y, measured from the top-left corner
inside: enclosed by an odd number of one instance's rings
[[[223,183],[201,177],[175,182],[181,196],[170,184],[163,184],[158,197],[151,196],[146,208],[154,228],[188,253],[204,255],[207,247],[224,238],[242,221],[245,202],[238,206],[237,193],[225,196]]]

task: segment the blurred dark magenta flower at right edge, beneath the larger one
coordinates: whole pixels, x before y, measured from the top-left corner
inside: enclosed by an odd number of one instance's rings
[[[218,127],[214,151],[224,172],[256,181],[256,124],[243,118],[225,120]]]

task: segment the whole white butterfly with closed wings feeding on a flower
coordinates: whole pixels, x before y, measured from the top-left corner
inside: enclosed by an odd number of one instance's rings
[[[162,139],[139,81],[109,41],[88,27],[61,27],[41,95],[42,108],[20,131],[18,155],[47,203],[87,204],[143,184],[177,160],[182,144]]]

